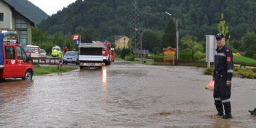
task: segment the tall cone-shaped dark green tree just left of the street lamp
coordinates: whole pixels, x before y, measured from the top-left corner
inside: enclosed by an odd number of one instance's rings
[[[175,21],[171,18],[165,27],[163,34],[162,47],[176,47],[176,25]]]

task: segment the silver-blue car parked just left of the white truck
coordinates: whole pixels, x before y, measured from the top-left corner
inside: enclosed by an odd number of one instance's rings
[[[67,51],[67,53],[63,55],[63,63],[75,63],[78,65],[79,60],[77,51]]]

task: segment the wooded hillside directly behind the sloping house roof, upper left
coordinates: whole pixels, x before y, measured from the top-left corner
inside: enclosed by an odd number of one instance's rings
[[[33,21],[36,25],[41,23],[43,19],[47,19],[49,17],[44,11],[42,11],[39,7],[33,5],[33,3],[27,0],[5,0],[7,3],[15,7],[19,13],[24,15]]]

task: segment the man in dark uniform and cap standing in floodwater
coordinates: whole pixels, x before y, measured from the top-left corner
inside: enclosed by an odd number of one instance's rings
[[[231,49],[225,45],[225,37],[218,33],[215,35],[217,49],[215,53],[215,69],[213,79],[215,80],[213,97],[218,111],[217,116],[223,119],[232,118],[231,115],[231,79],[233,75],[233,55]],[[223,113],[223,106],[225,115]]]

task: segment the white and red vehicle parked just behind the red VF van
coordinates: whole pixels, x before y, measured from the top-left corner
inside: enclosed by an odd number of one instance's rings
[[[32,59],[37,59],[38,57],[40,57],[39,46],[27,45],[26,47],[24,47],[24,50],[27,56],[31,55]]]

